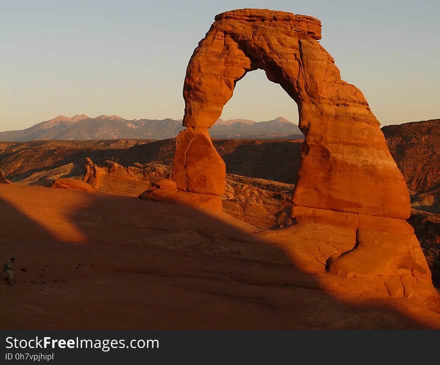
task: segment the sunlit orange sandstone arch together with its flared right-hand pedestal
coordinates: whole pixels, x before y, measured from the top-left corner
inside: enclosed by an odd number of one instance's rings
[[[176,140],[172,194],[222,194],[224,163],[208,128],[235,83],[263,69],[297,103],[305,135],[292,197],[296,224],[286,230],[310,232],[319,252],[292,243],[291,256],[308,267],[318,262],[344,277],[364,277],[364,287],[356,284],[361,292],[372,286],[391,296],[433,298],[426,261],[404,221],[410,206],[402,174],[362,92],[341,80],[320,38],[321,23],[310,16],[267,9],[215,16],[186,69],[186,129]]]

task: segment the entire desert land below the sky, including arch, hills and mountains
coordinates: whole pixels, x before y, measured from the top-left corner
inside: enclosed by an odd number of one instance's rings
[[[0,132],[1,328],[440,329],[440,119],[380,128],[320,38],[308,15],[226,11],[183,119]],[[256,69],[298,125],[221,118]]]

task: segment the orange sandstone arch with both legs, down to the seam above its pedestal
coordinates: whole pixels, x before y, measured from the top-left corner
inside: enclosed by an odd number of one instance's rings
[[[306,136],[293,202],[409,217],[406,184],[379,122],[361,91],[341,80],[320,37],[320,21],[305,15],[241,9],[215,17],[186,70],[187,129],[177,137],[173,170],[179,190],[222,193],[225,168],[207,128],[221,115],[235,83],[261,68],[297,103]]]

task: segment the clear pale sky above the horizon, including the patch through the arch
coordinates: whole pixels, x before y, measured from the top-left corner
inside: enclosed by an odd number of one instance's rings
[[[256,7],[322,21],[321,44],[382,124],[440,118],[439,0],[0,0],[0,131],[59,114],[179,119],[189,57],[215,14]],[[297,122],[261,70],[222,117]]]

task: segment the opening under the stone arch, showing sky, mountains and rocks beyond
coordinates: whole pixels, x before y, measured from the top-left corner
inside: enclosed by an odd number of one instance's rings
[[[226,167],[220,196],[224,212],[259,229],[291,223],[290,198],[304,137],[297,120],[297,104],[263,69],[236,80],[220,119],[209,128]],[[252,121],[260,123],[251,126]]]

